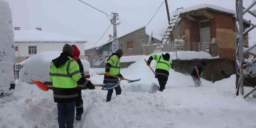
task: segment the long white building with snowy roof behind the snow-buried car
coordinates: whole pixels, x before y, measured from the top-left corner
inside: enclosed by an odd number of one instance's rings
[[[62,51],[66,43],[76,45],[81,51],[79,58],[84,59],[84,43],[87,41],[85,39],[42,31],[41,28],[24,30],[15,28],[14,42],[15,62],[19,63],[36,53]]]

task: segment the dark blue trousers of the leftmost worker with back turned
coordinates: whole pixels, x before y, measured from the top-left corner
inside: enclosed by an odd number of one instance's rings
[[[57,106],[59,128],[73,128],[75,118],[75,102],[57,102]]]

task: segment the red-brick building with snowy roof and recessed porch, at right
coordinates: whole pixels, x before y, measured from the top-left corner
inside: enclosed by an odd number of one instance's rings
[[[207,42],[218,44],[220,58],[235,60],[236,23],[235,11],[220,6],[201,4],[184,8],[180,19],[172,30],[169,41],[182,38],[185,42]],[[244,29],[250,25],[244,22]],[[248,45],[248,34],[244,35]]]

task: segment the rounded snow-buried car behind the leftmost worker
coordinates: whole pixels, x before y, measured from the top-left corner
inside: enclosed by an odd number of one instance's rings
[[[41,52],[30,57],[19,72],[19,82],[24,81],[26,83],[32,83],[30,79],[42,81],[43,83],[50,81],[49,70],[51,62],[53,59],[60,56],[60,53],[61,52]],[[84,75],[88,78],[90,63],[82,59],[81,62],[84,66]]]

